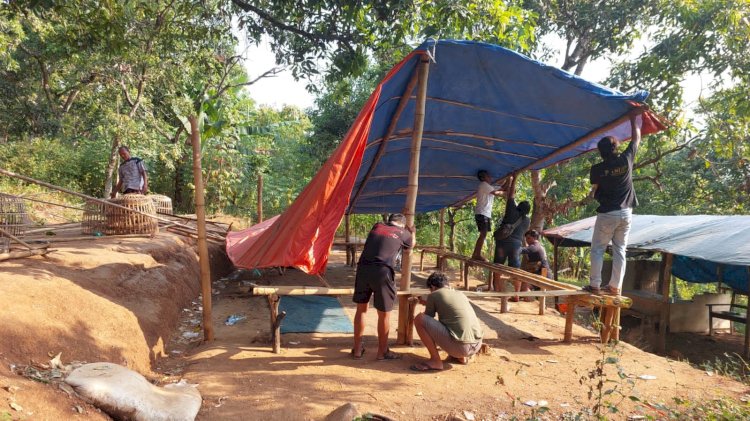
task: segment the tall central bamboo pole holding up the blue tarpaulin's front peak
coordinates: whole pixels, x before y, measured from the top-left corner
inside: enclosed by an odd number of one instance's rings
[[[416,109],[414,110],[414,129],[411,140],[411,162],[409,163],[409,183],[407,187],[406,203],[404,204],[404,216],[406,226],[414,228],[414,209],[417,205],[417,192],[419,190],[419,152],[422,148],[422,130],[424,129],[425,103],[427,102],[427,78],[430,72],[430,61],[423,56],[416,69],[419,74],[419,90],[417,92]],[[416,235],[416,233],[414,234]],[[401,258],[401,284],[402,291],[411,289],[411,249],[406,249]],[[406,297],[399,299],[398,309],[398,338],[397,343],[405,344],[412,335],[407,332],[409,326],[409,305]]]

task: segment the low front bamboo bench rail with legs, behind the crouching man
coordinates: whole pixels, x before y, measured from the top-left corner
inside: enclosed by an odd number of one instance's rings
[[[581,297],[587,296],[588,293],[580,290],[554,290],[554,291],[520,291],[520,292],[477,292],[477,291],[462,291],[468,297],[501,297],[507,299],[512,296],[519,297]],[[412,289],[410,291],[397,291],[398,295],[406,295],[409,297],[417,297],[420,295],[429,294],[430,291],[427,289]],[[268,299],[268,306],[271,312],[271,343],[273,347],[273,353],[278,354],[281,351],[281,322],[286,317],[285,312],[279,312],[279,301],[283,295],[326,295],[326,296],[341,296],[341,295],[353,295],[354,288],[326,288],[326,287],[310,287],[310,286],[279,286],[279,287],[254,287],[252,289],[253,296],[266,296]],[[544,300],[540,300],[544,301]],[[414,319],[414,301],[410,301],[409,319],[407,321],[407,328],[413,326]],[[573,320],[570,320],[572,323]],[[567,323],[567,320],[566,320]],[[572,328],[571,328],[572,329]],[[568,328],[566,326],[566,332]],[[407,338],[411,338],[411,335],[407,334]]]

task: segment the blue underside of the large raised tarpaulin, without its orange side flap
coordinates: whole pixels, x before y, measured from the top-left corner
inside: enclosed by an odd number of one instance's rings
[[[500,180],[590,151],[605,135],[629,139],[627,114],[648,96],[618,92],[496,45],[427,41],[382,84],[347,213],[404,208],[416,109],[410,86],[426,57],[417,213],[472,198],[481,169]],[[638,123],[644,135],[664,128],[650,112]]]

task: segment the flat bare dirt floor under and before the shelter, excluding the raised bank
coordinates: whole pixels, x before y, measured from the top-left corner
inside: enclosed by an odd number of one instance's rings
[[[416,274],[415,286],[422,287],[418,283],[428,274]],[[343,253],[335,252],[327,282],[349,287],[353,276],[354,271],[343,264]],[[320,285],[319,280],[293,271],[283,277],[267,271],[252,281]],[[200,384],[204,395],[199,419],[313,420],[352,402],[362,412],[393,419],[467,418],[473,414],[479,420],[504,414],[531,415],[534,408],[525,404],[530,401],[547,401],[547,416],[556,418],[594,405],[587,394],[596,391],[599,379],[587,379],[583,384],[580,379],[595,370],[603,355],[619,358],[617,364],[606,365],[608,378],[617,379],[618,367],[629,376],[606,384],[603,390],[617,386],[625,396],[642,401],[669,405],[676,396],[698,401],[717,396],[719,391],[732,397],[746,391],[737,382],[709,376],[686,363],[644,353],[625,343],[602,354],[596,334],[580,326],[574,329],[574,343],[563,344],[564,318],[556,312],[538,316],[535,303],[519,303],[510,313],[500,314],[495,299],[474,301],[492,352],[467,366],[412,372],[409,366],[428,356],[421,346],[394,346],[394,351],[403,354],[402,360],[376,361],[376,315],[372,310],[367,314],[365,339],[369,352],[363,360],[349,358],[350,334],[285,334],[282,352],[276,355],[268,344],[265,297],[243,298],[246,288],[242,281],[228,282],[223,289],[227,298],[219,297],[214,309],[216,342],[198,347],[186,359],[184,376]],[[351,300],[342,297],[340,301],[353,317]],[[237,313],[248,319],[234,326],[222,323]],[[395,324],[391,323],[394,339]],[[643,380],[639,378],[642,375],[655,379]],[[606,401],[624,415],[660,415],[617,393]]]

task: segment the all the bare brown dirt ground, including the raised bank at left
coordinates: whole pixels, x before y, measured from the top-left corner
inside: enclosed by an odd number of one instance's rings
[[[588,374],[603,356],[614,359],[604,366],[612,381],[602,391],[616,387],[624,395],[604,398],[605,406],[619,410],[612,419],[659,418],[664,413],[658,405],[671,405],[674,397],[739,401],[748,393],[741,383],[624,342],[602,351],[596,333],[582,326],[574,327],[573,343],[564,344],[564,318],[554,310],[538,316],[535,303],[513,303],[509,313],[501,314],[492,298],[473,299],[491,351],[466,366],[412,372],[409,366],[428,355],[418,343],[394,345],[401,360],[376,361],[374,310],[367,313],[362,360],[349,357],[351,334],[284,334],[282,352],[271,353],[268,304],[265,297],[249,295],[251,283],[350,287],[354,270],[344,264],[341,251],[332,253],[322,279],[295,270],[283,276],[273,270],[242,271],[221,278],[229,267],[214,249],[216,340],[201,343],[192,246],[171,234],[104,238],[60,243],[46,258],[0,262],[0,419],[107,419],[56,386],[59,376],[45,364],[59,352],[64,362],[120,363],[157,384],[196,383],[203,395],[201,420],[320,420],[347,402],[362,413],[398,420],[558,419],[594,406],[588,394],[597,392],[599,378]],[[428,274],[415,272],[413,286],[421,288]],[[340,302],[353,317],[351,299]],[[233,314],[246,319],[225,325]],[[697,361],[741,349],[736,337],[729,343],[724,339],[672,335],[670,353]],[[35,376],[38,381],[28,378]],[[537,406],[530,406],[532,401]],[[543,413],[542,401],[549,408]]]

